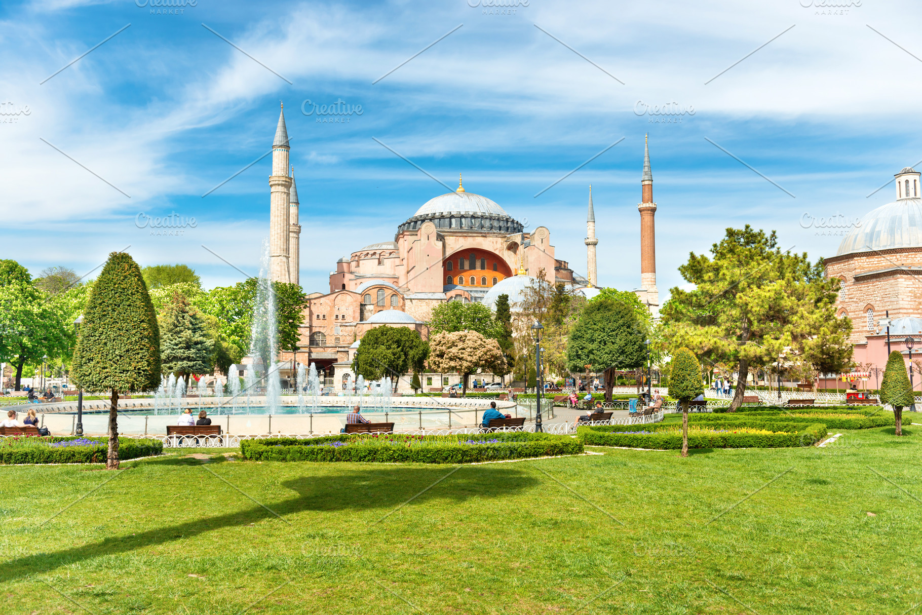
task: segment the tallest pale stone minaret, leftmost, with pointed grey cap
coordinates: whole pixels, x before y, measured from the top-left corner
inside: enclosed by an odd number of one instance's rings
[[[269,177],[269,279],[288,282],[289,277],[289,170],[288,130],[285,110],[278,113],[276,138],[272,142],[272,175]]]

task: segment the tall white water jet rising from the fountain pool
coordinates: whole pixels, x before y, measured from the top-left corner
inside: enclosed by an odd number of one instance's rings
[[[263,258],[256,281],[256,299],[250,337],[250,355],[261,359],[263,384],[266,387],[266,413],[278,414],[281,407],[281,383],[278,379],[278,325],[276,293],[269,281],[269,240],[263,241]]]

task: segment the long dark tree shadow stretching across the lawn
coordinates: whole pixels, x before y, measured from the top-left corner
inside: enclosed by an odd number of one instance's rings
[[[153,460],[152,460],[153,461]],[[156,460],[158,465],[184,466],[186,460],[179,457]],[[193,460],[195,461],[195,460]],[[150,463],[150,462],[148,462]],[[213,466],[209,463],[206,466]],[[312,468],[314,469],[314,468]],[[332,468],[331,468],[332,469]],[[219,514],[206,518],[195,519],[172,526],[161,526],[148,529],[135,534],[123,534],[103,538],[80,547],[56,550],[51,552],[36,553],[8,560],[0,567],[0,583],[8,583],[26,578],[35,574],[50,572],[60,566],[76,562],[91,560],[104,555],[126,553],[146,547],[161,545],[178,538],[195,538],[223,527],[249,526],[265,519],[275,519],[282,523],[272,511],[283,519],[293,514],[304,511],[331,512],[374,511],[364,521],[369,527],[378,522],[381,517],[393,511],[400,504],[406,503],[413,496],[419,495],[410,505],[419,505],[426,501],[447,500],[452,503],[463,503],[470,497],[500,497],[517,493],[540,484],[540,480],[527,474],[525,468],[510,467],[502,464],[497,466],[461,467],[450,477],[432,486],[439,479],[443,479],[451,472],[454,466],[433,467],[365,467],[361,469],[347,469],[343,471],[324,472],[320,469],[312,476],[304,476],[287,480],[282,486],[295,491],[297,496],[282,501],[263,502],[270,510],[262,505],[254,504],[248,509]],[[203,469],[203,472],[205,470]],[[220,472],[216,472],[219,474]],[[222,482],[214,479],[215,489],[220,489]],[[222,477],[223,478],[223,477]],[[254,485],[239,483],[231,477],[230,482],[257,501],[258,492],[254,492]],[[124,479],[127,479],[125,477]],[[124,481],[124,479],[121,479]],[[196,483],[197,484],[197,483]],[[231,486],[224,486],[231,497],[231,502],[250,501]],[[425,491],[420,495],[420,491]],[[148,503],[156,505],[156,503]],[[113,504],[118,508],[117,504]],[[399,524],[399,513],[388,516],[384,521],[375,525],[387,530]],[[349,517],[354,519],[354,517]],[[288,520],[288,519],[286,519]],[[358,527],[356,527],[358,528]],[[298,526],[291,526],[293,536],[297,536]]]

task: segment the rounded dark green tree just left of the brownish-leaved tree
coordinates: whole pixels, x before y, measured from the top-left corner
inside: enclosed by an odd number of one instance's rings
[[[400,376],[422,371],[428,356],[429,345],[417,331],[406,326],[376,326],[362,336],[352,371],[365,380],[392,378],[396,390]]]

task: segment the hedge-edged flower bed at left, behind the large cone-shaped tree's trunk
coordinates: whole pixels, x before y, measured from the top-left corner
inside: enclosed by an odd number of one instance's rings
[[[119,438],[119,459],[160,455],[160,440]],[[76,436],[6,436],[0,438],[0,464],[101,464],[109,452],[108,438]]]

